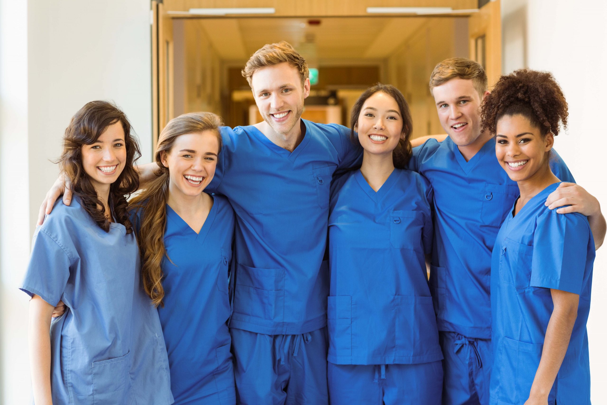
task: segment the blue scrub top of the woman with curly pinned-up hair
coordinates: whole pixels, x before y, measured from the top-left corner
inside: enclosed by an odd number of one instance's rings
[[[558,184],[534,196],[516,216],[510,211],[495,242],[491,264],[492,404],[522,404],[529,397],[554,309],[551,288],[579,294],[580,302],[548,402],[590,404],[586,321],[594,239],[582,214],[557,214],[544,206]]]

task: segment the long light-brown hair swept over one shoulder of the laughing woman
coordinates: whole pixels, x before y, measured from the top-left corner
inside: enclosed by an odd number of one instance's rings
[[[162,287],[162,260],[168,260],[164,248],[164,231],[166,230],[166,201],[169,196],[169,168],[163,165],[162,153],[170,153],[175,139],[185,134],[200,134],[212,131],[219,140],[219,151],[222,149],[222,135],[219,127],[222,119],[212,112],[191,112],[173,118],[164,127],[156,146],[155,179],[146,183],[145,188],[131,201],[131,207],[138,213],[138,223],[135,226],[137,242],[141,254],[141,278],[143,288],[152,303],[163,305],[164,288]]]

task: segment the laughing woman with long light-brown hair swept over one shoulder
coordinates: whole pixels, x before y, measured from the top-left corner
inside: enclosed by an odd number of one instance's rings
[[[221,118],[173,118],[158,139],[154,180],[132,201],[146,293],[158,306],[175,404],[236,403],[228,331],[234,211],[206,193]]]

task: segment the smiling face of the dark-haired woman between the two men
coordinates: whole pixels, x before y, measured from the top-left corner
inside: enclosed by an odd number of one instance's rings
[[[355,131],[365,154],[392,155],[402,135],[403,121],[396,100],[377,92],[362,104]]]

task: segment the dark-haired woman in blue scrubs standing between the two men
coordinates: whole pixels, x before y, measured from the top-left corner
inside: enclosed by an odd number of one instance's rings
[[[362,166],[332,185],[329,217],[333,405],[441,403],[443,353],[424,257],[433,194],[404,169],[411,134],[395,87],[376,84],[354,104],[351,140],[364,149]]]

